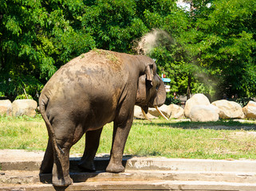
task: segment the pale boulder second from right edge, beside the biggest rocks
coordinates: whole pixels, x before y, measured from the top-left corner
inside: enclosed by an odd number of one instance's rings
[[[242,107],[234,101],[222,99],[211,104],[219,108],[219,118],[221,119],[243,119],[245,117]]]

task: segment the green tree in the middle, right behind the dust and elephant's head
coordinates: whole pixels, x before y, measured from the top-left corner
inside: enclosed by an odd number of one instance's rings
[[[148,6],[149,2],[151,6]],[[180,95],[187,94],[189,98],[192,92],[206,92],[202,89],[202,83],[199,83],[199,77],[195,75],[199,71],[196,56],[188,50],[188,45],[195,43],[193,37],[196,33],[191,25],[190,14],[176,7],[174,1],[164,1],[161,6],[158,3],[141,1],[140,7],[145,10],[140,12],[144,13],[141,18],[149,29],[158,29],[152,32],[157,43],[148,55],[156,59],[159,72],[171,78],[171,92],[168,96],[178,92]]]

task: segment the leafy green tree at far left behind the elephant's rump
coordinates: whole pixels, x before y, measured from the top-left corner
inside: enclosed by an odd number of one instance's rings
[[[45,80],[72,57],[95,47],[93,37],[69,21],[76,2],[2,0],[0,94],[40,93]],[[72,4],[72,5],[70,5]],[[67,7],[69,9],[67,9]],[[69,14],[67,14],[69,12]],[[1,96],[0,95],[0,96]]]

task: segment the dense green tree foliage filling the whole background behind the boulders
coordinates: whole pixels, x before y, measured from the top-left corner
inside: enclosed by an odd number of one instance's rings
[[[95,48],[134,53],[134,42],[158,29],[148,56],[171,78],[171,93],[256,96],[255,1],[187,2],[190,11],[174,0],[2,0],[1,95],[36,98],[73,57]]]

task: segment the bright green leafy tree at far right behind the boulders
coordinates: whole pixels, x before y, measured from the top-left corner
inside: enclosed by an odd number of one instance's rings
[[[202,16],[203,15],[203,16]],[[215,78],[217,96],[255,96],[255,15],[250,0],[212,1],[211,13],[201,13],[195,27],[201,33],[195,49],[199,63]]]

